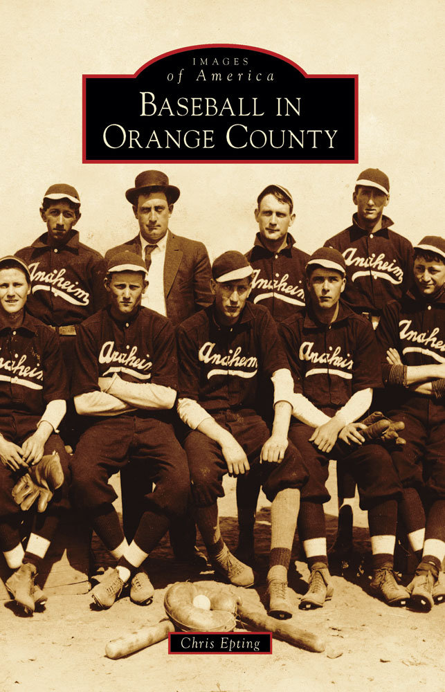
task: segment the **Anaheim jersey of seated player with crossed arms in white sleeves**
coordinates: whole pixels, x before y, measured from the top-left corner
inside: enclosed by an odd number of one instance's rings
[[[82,322],[76,340],[73,397],[100,390],[99,377],[177,389],[174,331],[167,318],[140,307],[123,322],[109,307]]]

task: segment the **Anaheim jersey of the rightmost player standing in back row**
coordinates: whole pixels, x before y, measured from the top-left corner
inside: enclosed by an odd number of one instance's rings
[[[399,300],[410,286],[412,276],[412,245],[409,240],[389,228],[390,218],[382,217],[382,228],[374,233],[357,225],[325,242],[325,247],[338,250],[346,262],[346,287],[342,300],[356,312],[380,315],[390,300]]]

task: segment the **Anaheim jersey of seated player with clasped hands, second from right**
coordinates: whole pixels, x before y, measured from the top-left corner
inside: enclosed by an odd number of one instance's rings
[[[305,309],[279,325],[294,390],[320,410],[336,410],[355,392],[381,387],[381,367],[371,323],[339,303],[329,325]]]

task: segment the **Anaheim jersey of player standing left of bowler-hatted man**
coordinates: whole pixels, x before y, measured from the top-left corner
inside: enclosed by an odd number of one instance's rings
[[[28,264],[31,293],[27,309],[46,325],[78,325],[107,304],[106,263],[71,231],[63,246],[48,244],[48,233],[15,253]]]

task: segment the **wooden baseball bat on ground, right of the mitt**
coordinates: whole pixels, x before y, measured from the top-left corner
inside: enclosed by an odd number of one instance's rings
[[[292,646],[305,648],[308,651],[316,651],[317,653],[324,651],[326,648],[326,642],[323,637],[314,635],[314,632],[302,630],[288,621],[269,617],[260,608],[238,605],[238,618],[243,626],[251,627],[257,631],[272,632],[272,637],[287,641]]]

